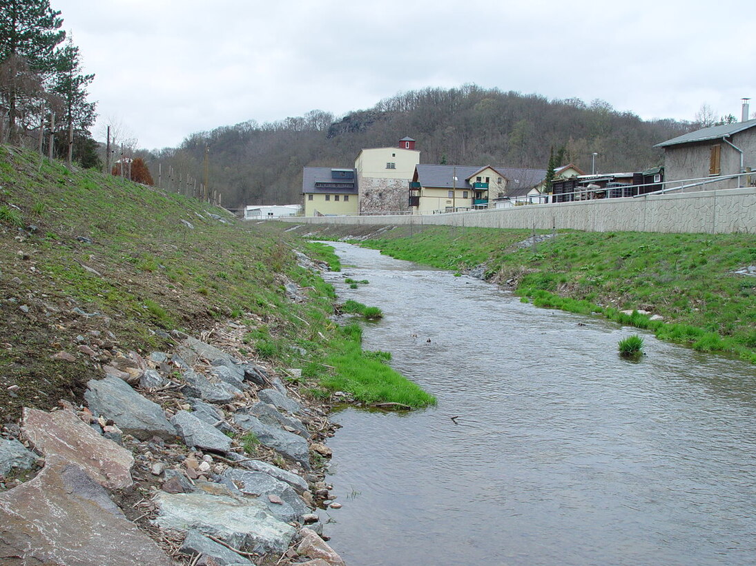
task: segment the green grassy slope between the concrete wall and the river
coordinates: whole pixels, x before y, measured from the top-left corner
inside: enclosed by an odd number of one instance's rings
[[[446,269],[486,264],[538,306],[601,312],[622,324],[703,351],[756,363],[756,278],[733,271],[756,264],[756,236],[559,232],[556,240],[513,246],[525,230],[400,227],[363,244]],[[665,322],[622,315],[643,309]]]

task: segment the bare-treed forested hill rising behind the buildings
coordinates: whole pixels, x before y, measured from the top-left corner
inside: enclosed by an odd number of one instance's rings
[[[597,152],[596,170],[609,172],[661,165],[662,152],[652,146],[690,129],[689,122],[643,121],[603,100],[548,100],[466,85],[398,94],[339,121],[313,110],[193,134],[151,155],[150,168],[157,180],[162,165],[164,188],[178,189],[179,176],[187,175],[199,185],[208,146],[210,189],[222,193],[225,207],[237,208],[299,202],[303,167],[352,167],[360,149],[393,146],[404,136],[417,140],[423,163],[545,169],[551,149],[563,146],[565,161],[590,171]]]

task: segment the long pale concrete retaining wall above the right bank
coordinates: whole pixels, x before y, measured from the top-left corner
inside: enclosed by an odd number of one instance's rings
[[[488,211],[407,216],[292,217],[286,222],[351,225],[442,224],[586,232],[756,233],[756,188],[606,198]]]

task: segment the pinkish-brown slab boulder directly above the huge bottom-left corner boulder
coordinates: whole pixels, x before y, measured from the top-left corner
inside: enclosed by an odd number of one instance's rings
[[[133,483],[132,453],[99,435],[73,411],[25,408],[21,433],[46,458],[76,464],[105,488],[128,488]]]

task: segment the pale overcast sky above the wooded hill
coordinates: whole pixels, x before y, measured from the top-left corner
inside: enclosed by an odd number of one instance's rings
[[[51,0],[95,73],[92,131],[138,146],[400,91],[475,83],[600,98],[641,118],[740,118],[756,98],[746,0]],[[756,110],[756,100],[751,109]],[[403,132],[404,134],[404,132]],[[412,132],[406,132],[412,134]]]

